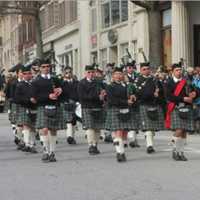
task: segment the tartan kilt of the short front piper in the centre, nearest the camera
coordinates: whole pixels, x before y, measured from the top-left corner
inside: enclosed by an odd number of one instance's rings
[[[105,129],[109,131],[138,130],[139,110],[136,108],[130,108],[130,120],[127,120],[125,122],[119,119],[119,110],[119,108],[108,108],[105,121]]]

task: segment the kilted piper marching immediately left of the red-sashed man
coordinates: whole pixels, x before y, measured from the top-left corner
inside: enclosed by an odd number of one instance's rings
[[[164,129],[164,114],[159,105],[160,91],[157,80],[152,76],[150,63],[140,64],[140,75],[135,80],[140,109],[140,130],[145,132],[147,153],[154,153],[155,131]]]

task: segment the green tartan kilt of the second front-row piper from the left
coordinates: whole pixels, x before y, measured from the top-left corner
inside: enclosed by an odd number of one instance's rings
[[[45,114],[45,106],[37,107],[37,116],[36,116],[36,128],[48,128],[52,130],[61,130],[63,129],[64,124],[62,123],[62,111],[60,106],[57,107],[57,114],[55,117],[47,117]]]

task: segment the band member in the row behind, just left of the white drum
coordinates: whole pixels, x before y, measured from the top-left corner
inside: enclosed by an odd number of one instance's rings
[[[75,140],[75,125],[76,115],[75,108],[78,102],[78,80],[73,76],[71,67],[64,69],[64,77],[62,83],[62,111],[63,120],[67,124],[66,137],[68,144],[76,144]]]

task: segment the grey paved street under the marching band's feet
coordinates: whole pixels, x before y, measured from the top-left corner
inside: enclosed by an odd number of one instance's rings
[[[117,163],[110,144],[89,156],[83,134],[78,145],[59,133],[57,163],[42,163],[41,153],[19,152],[5,114],[0,115],[0,200],[199,200],[200,137],[190,136],[188,162],[171,160],[170,133],[156,136],[156,154],[128,149],[127,163]],[[38,147],[41,147],[38,144]]]

